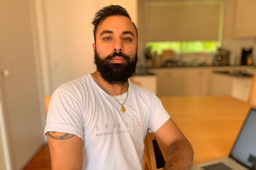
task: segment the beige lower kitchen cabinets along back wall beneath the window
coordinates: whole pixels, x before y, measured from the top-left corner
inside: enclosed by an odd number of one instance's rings
[[[158,96],[211,95],[212,72],[246,70],[253,66],[151,68],[157,76]]]

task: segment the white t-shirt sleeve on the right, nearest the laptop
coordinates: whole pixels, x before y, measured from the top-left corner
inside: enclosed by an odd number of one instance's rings
[[[151,98],[151,115],[148,132],[156,132],[168,119],[170,119],[170,115],[163,107],[162,102],[156,95],[153,95]]]

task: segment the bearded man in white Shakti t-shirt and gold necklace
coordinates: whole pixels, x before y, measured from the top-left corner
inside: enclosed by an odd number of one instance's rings
[[[147,130],[169,148],[165,169],[188,169],[193,149],[156,95],[128,82],[137,63],[137,29],[127,11],[96,13],[97,70],[61,85],[50,101],[45,135],[52,169],[142,169]]]

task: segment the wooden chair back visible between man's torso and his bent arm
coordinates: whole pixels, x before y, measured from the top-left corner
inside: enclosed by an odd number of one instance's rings
[[[147,132],[144,140],[145,150],[143,153],[143,170],[160,170],[157,169],[157,162],[155,157],[155,151],[152,141],[151,133]]]

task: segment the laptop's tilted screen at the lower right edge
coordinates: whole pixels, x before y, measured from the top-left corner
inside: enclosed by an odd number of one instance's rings
[[[251,109],[230,157],[244,164],[249,169],[256,169],[256,110]]]

